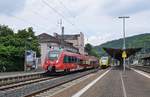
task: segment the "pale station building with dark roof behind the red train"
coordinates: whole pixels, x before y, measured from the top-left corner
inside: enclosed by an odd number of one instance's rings
[[[41,49],[41,64],[44,63],[50,48],[59,49],[62,46],[61,36],[57,33],[54,33],[54,36],[42,33],[38,35],[38,41]],[[63,49],[84,54],[84,35],[82,33],[76,35],[64,35]]]

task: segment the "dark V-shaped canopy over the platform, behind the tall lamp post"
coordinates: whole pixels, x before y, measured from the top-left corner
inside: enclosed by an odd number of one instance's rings
[[[126,52],[127,58],[131,55],[134,55],[136,52],[140,51],[141,48],[127,48],[125,50],[123,49],[116,49],[116,48],[103,48],[112,58],[115,58],[117,60],[122,60],[122,53],[123,51]]]

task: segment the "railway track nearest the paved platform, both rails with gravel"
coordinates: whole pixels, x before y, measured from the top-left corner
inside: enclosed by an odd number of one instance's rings
[[[75,79],[95,72],[96,70],[72,72],[64,76],[53,76],[33,80],[14,86],[0,88],[0,97],[32,97],[46,90],[68,83]]]

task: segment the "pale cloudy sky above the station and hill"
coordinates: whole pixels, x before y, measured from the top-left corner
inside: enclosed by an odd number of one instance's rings
[[[83,32],[85,42],[99,45],[126,35],[150,33],[150,0],[0,0],[0,24],[14,31],[32,26],[36,35],[60,33],[60,20],[65,34]]]

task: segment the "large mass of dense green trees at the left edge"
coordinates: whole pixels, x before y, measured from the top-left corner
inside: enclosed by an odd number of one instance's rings
[[[34,50],[40,56],[37,37],[31,27],[14,33],[8,26],[0,26],[0,71],[20,71],[24,67],[25,50]]]

